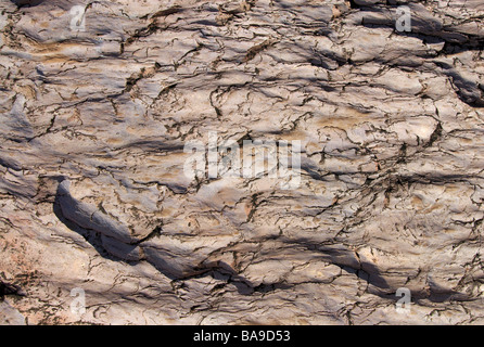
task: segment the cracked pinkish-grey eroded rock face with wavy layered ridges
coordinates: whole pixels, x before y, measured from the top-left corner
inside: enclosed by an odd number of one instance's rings
[[[2,323],[484,323],[482,1],[0,11]],[[300,184],[188,177],[213,132]]]

